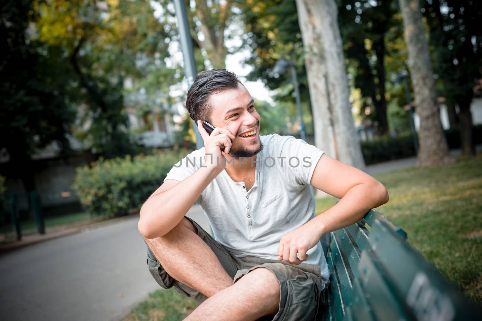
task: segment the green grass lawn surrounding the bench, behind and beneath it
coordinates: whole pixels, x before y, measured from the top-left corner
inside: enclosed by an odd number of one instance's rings
[[[456,164],[375,175],[390,200],[377,208],[408,234],[408,242],[466,296],[482,305],[482,153]],[[316,212],[335,198],[316,201]],[[153,281],[154,282],[154,281]],[[124,321],[182,320],[194,302],[158,290]]]

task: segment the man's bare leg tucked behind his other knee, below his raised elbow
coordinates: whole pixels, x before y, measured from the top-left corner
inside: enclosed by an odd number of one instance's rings
[[[233,284],[213,250],[186,218],[168,234],[145,240],[169,275],[205,296],[213,296]]]

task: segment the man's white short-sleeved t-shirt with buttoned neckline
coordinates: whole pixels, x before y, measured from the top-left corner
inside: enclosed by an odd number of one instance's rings
[[[323,151],[293,136],[260,136],[255,182],[246,191],[226,170],[196,200],[207,216],[214,239],[236,257],[278,259],[281,236],[315,217],[315,198],[309,182]],[[177,162],[165,180],[183,181],[204,164],[204,148]],[[246,159],[250,162],[249,159]],[[233,166],[228,163],[226,166]],[[319,264],[328,283],[329,272],[321,243],[309,249],[304,263]]]

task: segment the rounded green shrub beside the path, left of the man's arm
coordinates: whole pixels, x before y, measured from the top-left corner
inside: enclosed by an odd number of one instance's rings
[[[187,150],[134,158],[100,159],[77,168],[72,187],[82,206],[96,216],[122,216],[140,209]]]

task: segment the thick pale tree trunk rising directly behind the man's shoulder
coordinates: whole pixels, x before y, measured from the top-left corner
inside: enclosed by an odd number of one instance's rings
[[[349,165],[365,169],[355,132],[343,46],[334,0],[296,0],[315,123],[315,143]]]

